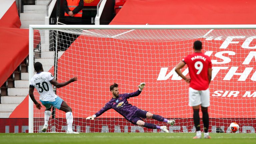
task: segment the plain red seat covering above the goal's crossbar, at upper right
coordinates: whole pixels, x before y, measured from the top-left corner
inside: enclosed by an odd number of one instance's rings
[[[255,0],[128,0],[110,24],[255,24],[255,9]]]

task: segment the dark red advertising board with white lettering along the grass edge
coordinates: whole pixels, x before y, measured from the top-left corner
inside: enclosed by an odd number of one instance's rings
[[[38,121],[39,119],[34,119]],[[216,128],[220,127],[225,133],[230,133],[229,124],[233,121],[239,121],[240,129],[238,132],[254,133],[256,128],[255,119],[215,119],[211,118],[209,132],[216,132]],[[195,132],[193,119],[176,119],[175,126],[170,126],[158,121],[149,121],[160,126],[166,125],[170,132]],[[34,132],[40,131],[43,122],[34,123]],[[202,120],[201,120],[202,124]],[[220,125],[221,124],[221,125]],[[202,128],[202,127],[201,127]],[[127,122],[124,118],[96,118],[95,120],[86,120],[82,118],[75,118],[73,129],[78,132],[160,132],[157,129],[147,129]],[[0,119],[0,133],[27,133],[28,119]],[[66,132],[66,119],[57,118],[50,119],[47,132]]]

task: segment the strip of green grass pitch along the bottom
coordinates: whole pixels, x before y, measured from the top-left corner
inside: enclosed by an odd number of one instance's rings
[[[212,139],[192,139],[195,133],[0,133],[0,144],[254,144],[255,133],[210,133]]]

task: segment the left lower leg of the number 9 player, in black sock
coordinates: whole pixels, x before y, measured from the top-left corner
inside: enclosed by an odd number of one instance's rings
[[[193,106],[193,118],[194,118],[194,124],[196,127],[196,136],[193,137],[193,139],[201,138],[201,130],[200,130],[200,119],[199,119],[199,108],[200,106]]]

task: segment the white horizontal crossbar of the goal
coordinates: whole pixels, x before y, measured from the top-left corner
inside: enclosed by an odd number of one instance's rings
[[[256,25],[30,25],[33,29],[255,29]]]

